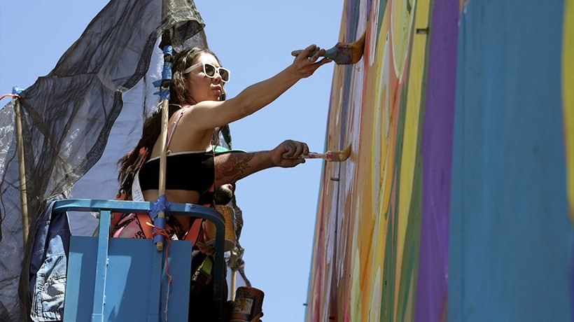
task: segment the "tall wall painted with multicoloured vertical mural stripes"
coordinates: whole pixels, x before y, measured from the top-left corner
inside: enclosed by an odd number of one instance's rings
[[[333,77],[326,148],[352,153],[323,168],[307,321],[571,321],[574,1],[552,2],[345,2],[365,50]]]

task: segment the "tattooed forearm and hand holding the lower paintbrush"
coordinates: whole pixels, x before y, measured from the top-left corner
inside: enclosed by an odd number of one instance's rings
[[[307,155],[307,144],[299,141],[286,140],[272,151],[225,153],[216,155],[216,186],[245,178],[250,174],[270,167],[295,167],[305,160],[300,155]]]

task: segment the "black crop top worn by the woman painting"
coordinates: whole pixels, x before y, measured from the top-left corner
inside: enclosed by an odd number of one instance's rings
[[[144,163],[139,170],[141,190],[159,189],[160,158]],[[197,191],[209,190],[215,181],[214,155],[211,151],[180,152],[167,155],[165,188]]]

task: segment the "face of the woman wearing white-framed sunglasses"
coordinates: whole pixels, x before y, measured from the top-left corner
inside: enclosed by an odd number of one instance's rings
[[[193,62],[193,64],[198,63],[209,63],[216,67],[221,67],[216,57],[207,52],[203,52],[199,57]],[[218,101],[221,97],[221,92],[223,92],[223,81],[219,73],[215,73],[214,77],[209,77],[204,73],[203,65],[195,67],[193,71],[188,73],[186,90],[188,91],[188,96],[193,99],[195,103],[202,101]]]

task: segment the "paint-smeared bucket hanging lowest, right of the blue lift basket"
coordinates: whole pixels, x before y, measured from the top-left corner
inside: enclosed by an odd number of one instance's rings
[[[241,286],[237,288],[230,322],[251,322],[260,316],[263,307],[263,291],[257,288]]]

